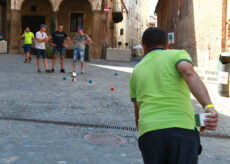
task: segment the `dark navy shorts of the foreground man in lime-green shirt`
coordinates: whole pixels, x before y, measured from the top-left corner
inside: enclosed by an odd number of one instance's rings
[[[155,130],[141,136],[138,143],[145,164],[197,164],[201,153],[197,130]]]

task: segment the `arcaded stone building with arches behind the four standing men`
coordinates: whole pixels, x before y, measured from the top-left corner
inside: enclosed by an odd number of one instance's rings
[[[64,25],[70,37],[74,37],[77,26],[84,26],[94,41],[90,57],[101,58],[103,3],[103,0],[0,0],[0,32],[9,41],[10,53],[18,53],[24,27],[36,32],[42,23],[50,26],[52,16],[55,24]]]

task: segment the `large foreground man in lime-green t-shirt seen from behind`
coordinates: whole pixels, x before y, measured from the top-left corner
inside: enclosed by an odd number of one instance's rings
[[[146,55],[131,75],[130,96],[144,163],[197,164],[201,148],[190,91],[210,114],[205,128],[215,130],[218,114],[208,91],[186,51],[166,50],[164,31],[148,28],[142,45]]]

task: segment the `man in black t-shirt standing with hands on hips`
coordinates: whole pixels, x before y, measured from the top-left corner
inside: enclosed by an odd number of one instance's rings
[[[67,44],[64,41],[67,40]],[[60,62],[61,62],[61,71],[65,73],[64,69],[64,56],[65,56],[65,48],[70,44],[70,38],[68,35],[63,31],[63,25],[58,25],[58,30],[55,31],[52,36],[50,37],[51,46],[54,47],[54,56],[52,62],[52,72],[55,72],[55,65],[57,61],[57,55],[60,54]],[[53,41],[53,43],[52,43]]]

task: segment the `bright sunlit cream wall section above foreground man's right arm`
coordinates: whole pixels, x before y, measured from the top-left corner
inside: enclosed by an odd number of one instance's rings
[[[209,61],[217,60],[221,53],[222,1],[194,1],[194,6],[199,65],[207,67]]]

